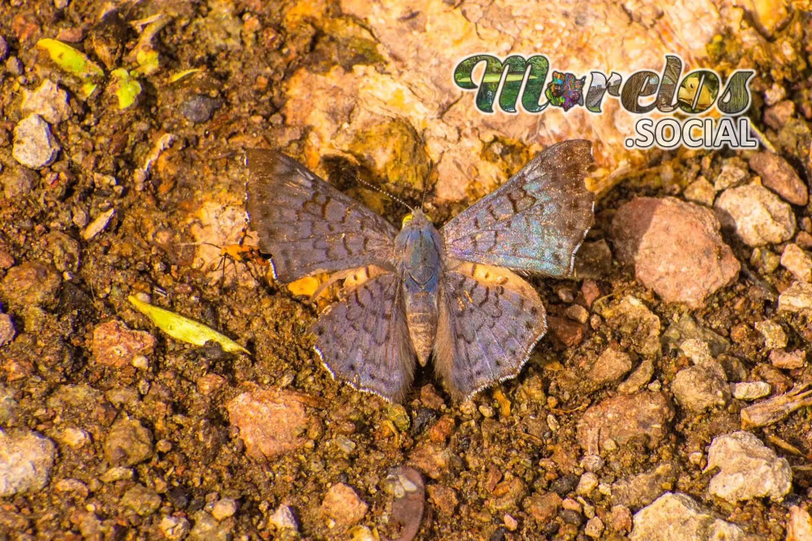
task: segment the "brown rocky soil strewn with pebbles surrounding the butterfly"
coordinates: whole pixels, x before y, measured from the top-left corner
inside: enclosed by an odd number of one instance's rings
[[[455,24],[525,46],[529,23],[477,2],[4,2],[0,539],[812,539],[809,6],[720,3],[690,35],[654,3],[583,6],[575,24],[626,17],[626,43],[667,49],[668,27],[695,62],[758,70],[762,149],[626,156],[574,117],[601,197],[574,279],[532,279],[550,333],[471,401],[425,369],[393,405],[318,363],[313,282],[214,270],[206,243],[242,236],[247,146],[394,222],[356,178],[428,187],[438,223],[490,191],[555,117],[474,118],[450,71],[408,79],[398,53]],[[249,354],[174,340],[131,295]]]

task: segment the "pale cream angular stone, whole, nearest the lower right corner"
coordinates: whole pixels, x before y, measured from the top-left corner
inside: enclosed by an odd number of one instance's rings
[[[719,468],[708,492],[735,504],[769,496],[781,501],[792,488],[793,472],[786,458],[775,455],[758,437],[740,431],[718,436],[711,442],[706,471]]]

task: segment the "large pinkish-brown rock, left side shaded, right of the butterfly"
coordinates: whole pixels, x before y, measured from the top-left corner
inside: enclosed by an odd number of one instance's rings
[[[611,222],[615,255],[667,303],[693,307],[738,277],[741,264],[711,209],[673,197],[638,197]]]

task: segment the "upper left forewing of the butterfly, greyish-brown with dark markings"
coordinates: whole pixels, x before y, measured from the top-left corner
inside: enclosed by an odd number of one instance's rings
[[[291,157],[261,148],[245,154],[248,215],[279,281],[369,264],[391,267],[397,231],[383,217]]]

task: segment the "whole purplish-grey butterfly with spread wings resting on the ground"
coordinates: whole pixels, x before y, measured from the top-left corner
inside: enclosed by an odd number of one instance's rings
[[[399,231],[291,157],[249,149],[248,217],[277,281],[345,280],[309,328],[334,378],[400,401],[432,359],[460,400],[518,375],[546,333],[517,273],[572,273],[594,222],[592,161],[589,141],[554,144],[440,229],[412,209]]]

